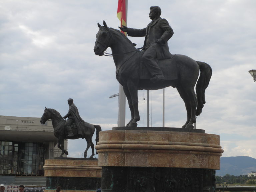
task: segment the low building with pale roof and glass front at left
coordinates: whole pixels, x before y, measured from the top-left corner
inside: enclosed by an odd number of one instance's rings
[[[56,144],[51,121],[43,125],[40,118],[0,115],[0,175],[43,176],[45,159],[61,153]]]

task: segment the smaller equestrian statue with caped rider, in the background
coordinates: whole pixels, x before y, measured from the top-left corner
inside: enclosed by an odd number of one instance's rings
[[[69,99],[68,102],[70,105],[71,100]],[[73,104],[73,99],[72,99],[72,104]],[[76,108],[76,107],[73,106],[73,108]],[[69,110],[69,113],[70,111],[72,111],[72,109]],[[69,113],[67,115],[69,115]],[[60,157],[62,157],[64,153],[68,155],[68,151],[64,149],[64,139],[79,139],[79,138],[83,139],[84,138],[87,142],[87,147],[84,151],[84,158],[86,158],[87,151],[90,147],[92,149],[92,155],[90,156],[90,158],[92,158],[95,155],[92,136],[96,129],[96,145],[97,145],[97,142],[99,141],[99,132],[101,131],[101,127],[99,125],[93,125],[93,124],[87,123],[83,120],[80,122],[80,125],[78,125],[76,120],[74,119],[79,118],[80,116],[78,117],[75,114],[72,114],[72,117],[71,116],[68,116],[68,117],[69,119],[66,121],[63,119],[63,117],[60,115],[58,111],[56,111],[55,109],[48,109],[45,107],[44,114],[42,115],[40,122],[42,124],[45,124],[45,122],[48,119],[52,120],[52,125],[54,129],[53,133],[55,137],[58,138],[58,148],[61,149],[62,151]],[[72,123],[70,124],[70,122]]]

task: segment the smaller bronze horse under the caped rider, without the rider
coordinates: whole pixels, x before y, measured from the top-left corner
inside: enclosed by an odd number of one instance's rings
[[[60,157],[62,157],[64,153],[68,155],[68,151],[64,149],[64,139],[79,139],[79,138],[85,138],[87,142],[87,147],[86,147],[86,150],[84,151],[84,158],[87,157],[87,150],[90,147],[92,149],[92,155],[90,156],[90,158],[94,156],[94,144],[92,142],[92,136],[96,129],[96,145],[97,145],[97,142],[99,141],[99,132],[101,131],[101,127],[99,125],[93,125],[93,124],[84,122],[83,131],[82,131],[83,135],[76,134],[75,131],[73,131],[74,136],[67,137],[66,136],[67,133],[64,128],[66,120],[63,119],[63,117],[60,115],[58,111],[56,111],[55,109],[48,109],[45,107],[44,114],[42,115],[40,122],[42,124],[45,124],[45,122],[48,119],[52,120],[52,125],[54,129],[53,133],[55,137],[58,138],[58,148],[61,149],[62,151]]]

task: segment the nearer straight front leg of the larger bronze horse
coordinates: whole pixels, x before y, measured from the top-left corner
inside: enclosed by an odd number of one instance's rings
[[[135,82],[127,83],[127,87],[131,96],[131,102],[133,106],[134,118],[130,122],[129,127],[137,127],[137,121],[140,120],[139,108],[138,108],[138,89]],[[130,106],[130,104],[129,104]],[[131,110],[132,111],[132,110]]]

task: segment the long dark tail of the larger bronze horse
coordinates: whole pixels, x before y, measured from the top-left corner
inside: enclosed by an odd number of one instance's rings
[[[197,94],[197,109],[196,115],[200,115],[205,104],[205,89],[208,87],[211,76],[212,68],[210,65],[204,62],[196,61],[200,67],[200,76],[196,84]]]

